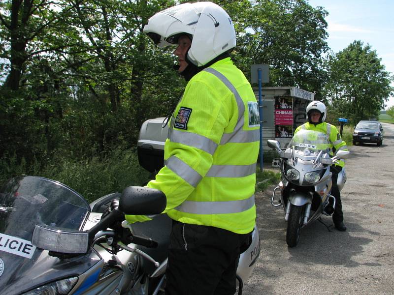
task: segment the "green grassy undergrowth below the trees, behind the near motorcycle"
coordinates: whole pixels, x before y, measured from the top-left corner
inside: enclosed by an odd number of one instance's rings
[[[23,160],[16,163],[15,158],[0,160],[1,184],[18,175],[47,177],[71,187],[88,202],[109,193],[122,192],[127,186],[143,185],[149,176],[139,166],[136,152],[132,150],[114,150],[104,159],[58,158],[43,169],[39,169],[38,164],[28,167]]]

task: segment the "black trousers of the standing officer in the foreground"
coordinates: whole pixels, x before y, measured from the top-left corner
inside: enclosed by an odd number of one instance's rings
[[[232,295],[241,251],[251,234],[173,221],[166,295]]]

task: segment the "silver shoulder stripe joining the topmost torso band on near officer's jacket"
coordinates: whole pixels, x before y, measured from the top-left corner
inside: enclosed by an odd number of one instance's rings
[[[222,73],[219,71],[213,69],[213,68],[205,68],[205,72],[211,73],[212,75],[216,76],[220,81],[223,82],[224,85],[230,91],[235,97],[237,106],[238,106],[238,121],[234,127],[234,132],[232,133],[224,133],[222,136],[222,139],[220,140],[220,144],[224,145],[226,143],[252,143],[260,140],[260,130],[242,130],[243,125],[244,125],[244,117],[243,114],[245,112],[245,105],[243,103],[242,98],[239,96],[238,91],[235,89],[235,87],[231,84],[229,79],[225,77]]]

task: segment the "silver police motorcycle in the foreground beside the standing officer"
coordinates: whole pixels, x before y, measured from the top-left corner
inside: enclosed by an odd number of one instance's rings
[[[171,230],[171,220],[159,214],[165,205],[164,194],[147,187],[89,205],[58,181],[8,180],[0,190],[1,294],[164,294]],[[124,213],[158,215],[130,225]],[[256,236],[240,259],[238,294],[256,264]]]

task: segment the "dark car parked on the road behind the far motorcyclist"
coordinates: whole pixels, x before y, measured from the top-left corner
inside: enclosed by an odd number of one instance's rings
[[[361,120],[353,132],[353,145],[359,143],[383,144],[383,127],[379,121]]]

